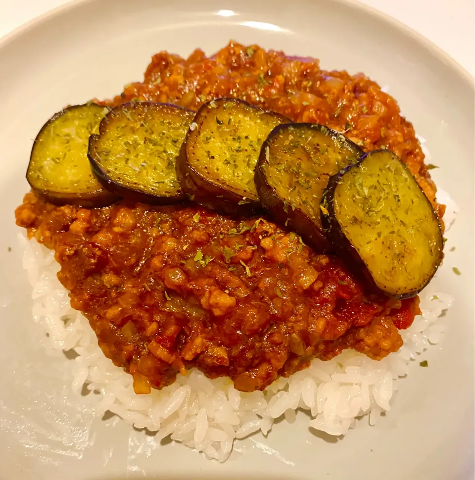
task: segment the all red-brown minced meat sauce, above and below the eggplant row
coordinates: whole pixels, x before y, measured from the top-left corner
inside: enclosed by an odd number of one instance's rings
[[[159,53],[143,83],[107,103],[196,109],[223,96],[345,131],[366,150],[393,150],[443,214],[412,125],[363,75],[231,43],[211,58]],[[345,348],[380,359],[400,348],[398,329],[420,313],[417,297],[366,292],[336,256],[316,254],[268,218],[237,221],[193,204],[54,206],[27,193],[16,221],[55,250],[71,306],[104,354],[133,375],[137,393],[191,367],[253,391]]]

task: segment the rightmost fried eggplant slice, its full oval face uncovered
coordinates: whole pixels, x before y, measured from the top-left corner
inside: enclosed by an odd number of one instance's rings
[[[437,215],[389,150],[367,153],[334,175],[321,212],[327,238],[342,259],[388,297],[416,295],[442,261]]]

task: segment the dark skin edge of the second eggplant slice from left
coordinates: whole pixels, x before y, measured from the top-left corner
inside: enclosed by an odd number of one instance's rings
[[[119,184],[118,182],[110,178],[107,172],[97,163],[97,161],[94,158],[94,149],[95,149],[96,142],[99,139],[99,137],[105,132],[108,122],[110,120],[110,117],[113,115],[113,112],[119,109],[124,109],[128,107],[133,108],[138,103],[150,105],[152,107],[157,105],[167,106],[170,108],[186,110],[194,113],[193,110],[180,107],[178,105],[174,105],[173,103],[160,103],[160,102],[153,102],[153,101],[141,101],[141,102],[131,101],[127,103],[121,103],[120,105],[115,106],[100,121],[99,134],[91,135],[89,137],[88,158],[89,158],[89,162],[91,163],[91,168],[93,170],[93,173],[97,178],[97,180],[99,181],[99,183],[109,192],[112,192],[120,197],[128,198],[132,201],[136,201],[139,203],[147,203],[149,205],[170,205],[173,203],[181,202],[186,199],[184,192],[180,192],[177,195],[171,195],[171,196],[158,196],[158,195],[152,195],[151,193],[142,192],[132,187],[124,187],[123,185]]]

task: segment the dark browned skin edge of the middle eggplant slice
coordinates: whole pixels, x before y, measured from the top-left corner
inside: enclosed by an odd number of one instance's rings
[[[259,112],[277,115],[282,118],[283,121],[288,121],[287,123],[291,122],[289,118],[285,117],[285,115],[281,115],[280,113],[264,110],[260,107],[250,105],[247,101],[241,100],[240,98],[225,97],[214,98],[209,102],[203,103],[203,105],[199,107],[191,123],[196,123],[199,125],[199,117],[202,111],[205,108],[208,108],[211,101],[217,100],[242,103]],[[185,141],[180,149],[180,154],[178,155],[176,163],[178,180],[183,191],[188,195],[190,200],[230,217],[243,218],[262,215],[265,212],[265,209],[263,208],[261,202],[251,200],[249,198],[244,200],[243,197],[238,193],[231,192],[230,190],[227,190],[226,188],[221,187],[220,185],[217,185],[208,179],[205,179],[198,172],[196,172],[193,167],[190,166],[188,163],[187,145],[191,133],[192,131],[189,129],[185,137]]]

